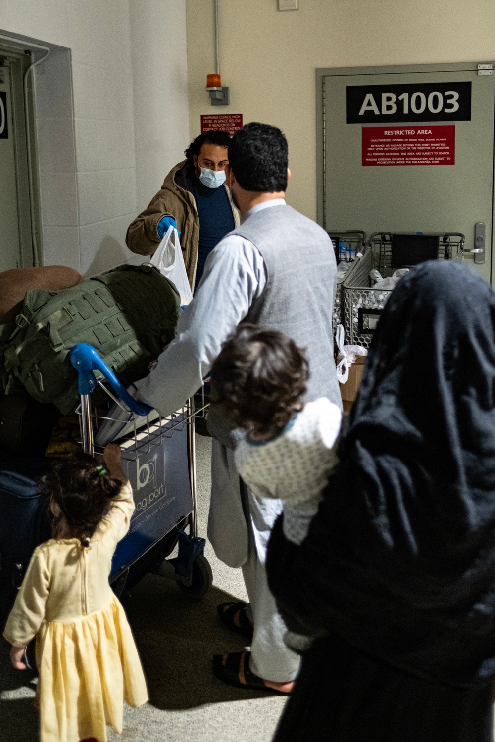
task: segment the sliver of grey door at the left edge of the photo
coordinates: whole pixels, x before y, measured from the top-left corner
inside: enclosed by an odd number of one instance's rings
[[[12,96],[7,67],[0,67],[0,173],[0,271],[5,271],[22,264]]]

